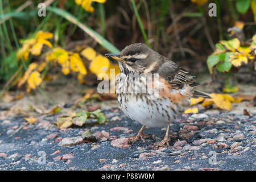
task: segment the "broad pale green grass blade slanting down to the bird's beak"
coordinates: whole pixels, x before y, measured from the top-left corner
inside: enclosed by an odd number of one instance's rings
[[[120,51],[113,46],[108,40],[104,39],[100,34],[98,34],[96,31],[92,30],[92,28],[87,27],[84,23],[80,22],[79,19],[76,18],[76,16],[72,15],[68,11],[61,10],[57,7],[47,7],[47,10],[51,11],[52,13],[55,13],[57,15],[62,16],[63,18],[67,19],[69,22],[72,22],[73,24],[76,24],[79,28],[81,28],[86,34],[91,36],[96,42],[101,44],[101,46],[105,47],[109,52],[111,53],[119,53]]]

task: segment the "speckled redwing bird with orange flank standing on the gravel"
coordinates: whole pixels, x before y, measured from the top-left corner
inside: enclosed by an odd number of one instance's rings
[[[194,88],[199,84],[185,69],[167,59],[145,44],[126,46],[119,54],[105,54],[117,60],[121,74],[115,91],[123,112],[143,126],[137,141],[147,127],[166,127],[166,135],[159,146],[169,145],[168,131],[191,104],[191,97],[210,98],[207,93]],[[143,140],[143,138],[142,138]]]

